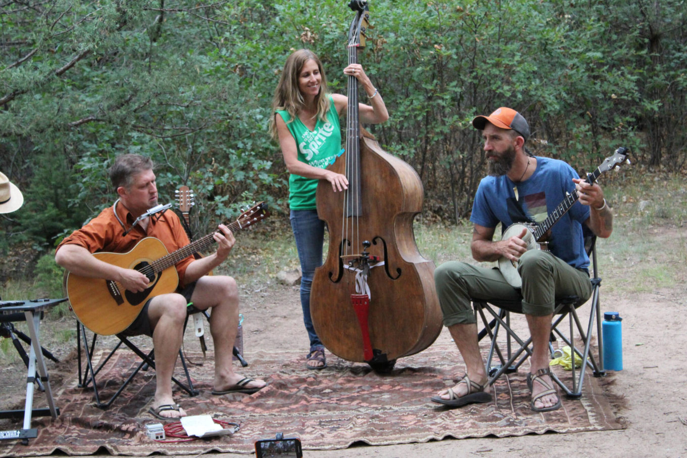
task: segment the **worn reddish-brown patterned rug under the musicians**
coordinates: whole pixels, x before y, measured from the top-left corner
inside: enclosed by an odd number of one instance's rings
[[[113,406],[102,411],[94,406],[91,390],[76,386],[76,367],[67,367],[64,370],[69,370],[71,376],[67,374],[60,386],[53,387],[60,417],[54,421],[35,418],[32,426],[38,428],[38,437],[31,439],[29,446],[0,442],[0,457],[49,455],[58,450],[67,455],[91,455],[99,449],[112,455],[138,456],[153,452],[251,453],[254,441],[273,438],[280,432],[284,437],[300,437],[305,450],[330,450],[354,442],[376,446],[447,437],[505,437],[623,427],[609,404],[612,394],[600,384],[604,379],[591,376],[585,377],[581,400],[564,399],[563,408],[550,413],[530,411],[524,373],[501,378],[495,384],[493,402],[453,410],[442,408],[429,398],[455,380],[455,360],[447,355],[457,358],[455,347],[435,344],[399,360],[391,375],[378,375],[366,364],[339,360],[330,354],[328,369],[306,371],[300,352],[250,353],[249,367],[241,373],[264,378],[269,385],[254,395],[218,397],[210,394],[213,364],[209,354],[203,366],[191,367],[200,395],[188,397],[175,391],[175,398],[188,415],[210,414],[240,424],[240,430],[234,435],[177,444],[157,444],[144,432],[145,424],[158,421],[147,412],[155,391],[153,371],[139,373]],[[194,361],[202,358],[197,354],[189,357]],[[103,369],[100,380],[119,380],[135,364],[131,351],[120,350]],[[554,370],[559,377],[565,377],[566,373],[559,369]],[[42,394],[37,393],[36,399],[43,400]],[[23,400],[17,403],[11,408],[23,408]],[[8,422],[0,420],[0,429],[21,428],[21,422]]]

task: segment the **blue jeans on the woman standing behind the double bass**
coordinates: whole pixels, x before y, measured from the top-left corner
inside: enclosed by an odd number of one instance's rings
[[[310,316],[310,290],[313,285],[315,269],[322,265],[322,246],[324,244],[324,221],[317,217],[317,210],[291,210],[291,228],[296,239],[298,259],[301,263],[301,307],[303,323],[310,338],[310,350],[322,349]]]

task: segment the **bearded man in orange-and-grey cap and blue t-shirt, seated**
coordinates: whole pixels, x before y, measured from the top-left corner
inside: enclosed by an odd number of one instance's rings
[[[477,344],[477,322],[471,298],[522,301],[532,335],[528,384],[533,411],[552,411],[561,399],[550,378],[548,342],[556,298],[592,294],[589,258],[585,252],[585,224],[598,237],[609,237],[613,215],[598,184],[588,184],[563,161],[530,155],[524,144],[530,136],[527,121],[517,111],[501,107],[489,116],[477,116],[473,126],[482,131],[488,176],[477,188],[470,220],[474,223],[472,254],[476,261],[502,257],[517,265],[521,288],[511,286],[499,269],[449,261],[434,272],[444,326],[449,328],[466,366],[460,382],[431,398],[447,406],[488,402],[487,375]],[[579,195],[570,210],[552,227],[549,250],[528,250],[528,229],[494,241],[498,223],[539,223],[565,199]]]

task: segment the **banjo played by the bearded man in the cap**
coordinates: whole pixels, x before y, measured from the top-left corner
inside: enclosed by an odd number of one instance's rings
[[[594,173],[587,173],[587,183],[593,184],[596,179],[604,172],[611,170],[611,168],[617,168],[620,164],[627,162],[627,148],[622,146],[616,149],[616,152],[612,156],[607,157],[600,166],[596,168]],[[555,223],[561,219],[563,215],[570,210],[570,207],[577,201],[579,196],[577,191],[573,193],[565,193],[565,199],[557,206],[541,223],[515,223],[506,229],[503,234],[502,240],[508,239],[520,235],[523,229],[527,229],[523,241],[527,243],[527,250],[546,250],[548,242],[542,241],[546,232],[554,226]],[[504,279],[509,285],[519,288],[522,287],[522,280],[520,279],[520,274],[517,272],[518,261],[511,261],[506,257],[501,257],[498,261],[499,270],[504,275]]]

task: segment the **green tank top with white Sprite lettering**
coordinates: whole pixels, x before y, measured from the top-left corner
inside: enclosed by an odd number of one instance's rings
[[[328,97],[330,107],[327,121],[323,122],[318,119],[315,129],[312,131],[299,118],[289,122],[291,116],[289,116],[288,111],[277,111],[296,141],[298,160],[317,168],[326,168],[341,151],[339,113],[337,113],[332,96]],[[317,179],[291,174],[289,177],[289,207],[291,210],[314,210],[317,208],[315,192],[318,181]]]

